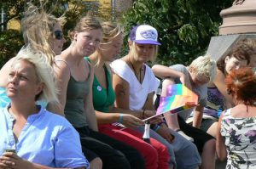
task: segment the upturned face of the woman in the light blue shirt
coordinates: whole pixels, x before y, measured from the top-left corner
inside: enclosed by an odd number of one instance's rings
[[[9,72],[7,95],[13,100],[35,101],[35,97],[43,90],[44,85],[38,82],[36,70],[32,64],[20,60]]]

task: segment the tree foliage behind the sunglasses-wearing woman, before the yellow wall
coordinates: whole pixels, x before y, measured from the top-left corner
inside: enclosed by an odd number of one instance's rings
[[[67,23],[64,25],[63,31],[67,42],[64,44],[63,49],[67,48],[70,43],[68,31],[72,30],[77,20],[86,15],[89,10],[90,14],[102,20],[113,20],[119,16],[119,13],[111,8],[103,8],[101,5],[97,6],[97,1],[96,3],[92,3],[91,6],[87,6],[88,3],[84,3],[85,1],[83,0],[3,0],[3,3],[0,3],[0,9],[3,8],[7,17],[3,23],[0,22],[0,26],[6,25],[9,20],[20,20],[25,11],[27,2],[31,2],[38,7],[44,4],[44,10],[57,17],[65,14]],[[7,60],[14,57],[23,45],[24,42],[20,31],[2,31],[2,29],[0,29],[0,68]]]

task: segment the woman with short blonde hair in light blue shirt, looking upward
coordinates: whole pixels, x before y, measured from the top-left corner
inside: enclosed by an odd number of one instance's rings
[[[53,70],[44,54],[21,49],[11,69],[6,87],[11,103],[0,110],[0,168],[89,167],[78,132],[64,117],[35,103],[57,101]]]

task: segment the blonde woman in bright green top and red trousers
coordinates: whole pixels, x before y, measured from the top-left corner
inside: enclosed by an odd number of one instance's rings
[[[114,106],[115,93],[112,86],[112,70],[108,63],[119,54],[123,44],[123,28],[113,22],[103,22],[102,30],[103,38],[100,48],[90,57],[85,58],[94,65],[93,104],[99,123],[99,131],[138,149],[144,157],[146,168],[157,168],[157,159],[163,156],[167,163],[169,155],[164,145],[151,139],[151,144],[154,145],[152,146],[142,140],[142,133],[134,130],[135,127],[144,124],[140,119],[143,118],[143,112],[124,110]],[[160,154],[159,157],[158,154]],[[137,156],[128,157],[132,168],[142,168],[141,162],[134,161],[137,158]],[[138,158],[137,161],[141,161],[141,159]]]

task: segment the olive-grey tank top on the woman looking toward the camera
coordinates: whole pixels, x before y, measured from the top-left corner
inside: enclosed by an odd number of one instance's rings
[[[73,127],[88,126],[84,110],[84,99],[89,93],[90,73],[85,82],[77,82],[73,76],[67,85],[67,100],[64,109],[67,120]]]

